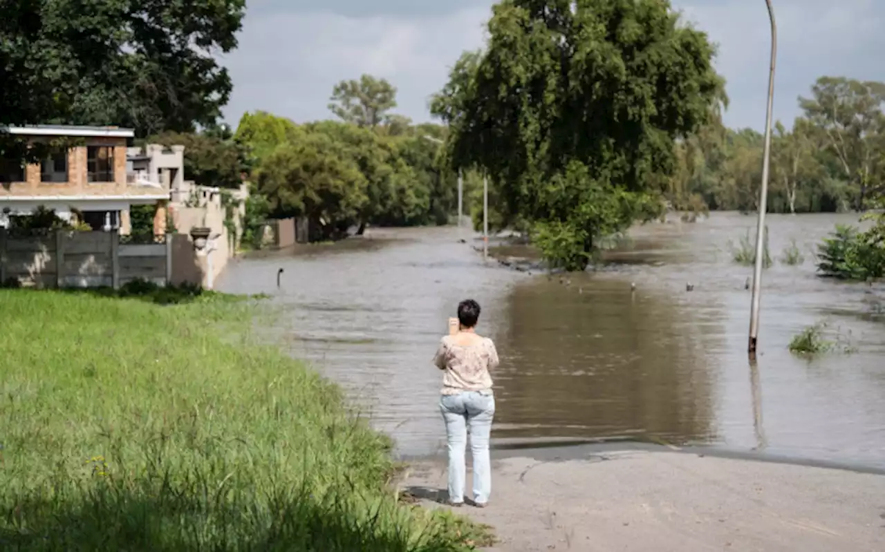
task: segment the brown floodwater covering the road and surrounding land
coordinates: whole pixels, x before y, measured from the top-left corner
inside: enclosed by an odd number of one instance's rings
[[[756,366],[752,268],[729,247],[756,219],[737,213],[637,227],[614,264],[565,278],[483,264],[457,228],[379,229],[238,261],[220,288],[274,295],[290,354],[349,389],[403,456],[443,449],[430,359],[458,301],[473,297],[502,359],[495,446],[627,439],[885,468],[885,288],[814,273],[814,245],[857,218],[767,220],[774,265]],[[784,265],[794,240],[804,264]],[[790,354],[793,335],[820,321],[855,352]]]

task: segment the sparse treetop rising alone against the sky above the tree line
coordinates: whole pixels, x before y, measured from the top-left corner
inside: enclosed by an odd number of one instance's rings
[[[342,121],[374,128],[396,107],[396,88],[387,80],[364,74],[359,80],[336,84],[329,100],[329,110]]]

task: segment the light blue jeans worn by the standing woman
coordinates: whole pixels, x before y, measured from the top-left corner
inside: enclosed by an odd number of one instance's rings
[[[443,395],[440,410],[449,441],[449,501],[464,502],[465,449],[469,428],[470,453],[473,456],[473,502],[489,502],[492,491],[489,434],[492,418],[495,417],[495,395],[491,391]]]

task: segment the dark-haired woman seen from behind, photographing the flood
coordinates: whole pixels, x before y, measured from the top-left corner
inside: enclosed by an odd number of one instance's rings
[[[495,396],[489,370],[498,364],[495,343],[476,334],[480,305],[467,299],[458,304],[458,332],[440,341],[434,364],[443,370],[443,411],[449,441],[449,503],[464,503],[465,449],[470,429],[473,456],[473,504],[484,508],[492,490],[489,433],[495,416]]]

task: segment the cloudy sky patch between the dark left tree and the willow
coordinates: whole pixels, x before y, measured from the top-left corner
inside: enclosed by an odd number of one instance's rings
[[[223,63],[234,80],[227,106],[266,110],[296,121],[325,119],[335,83],[370,73],[398,88],[397,112],[427,120],[427,100],[442,88],[461,52],[482,43],[486,8],[433,18],[348,18],[328,13],[247,18],[240,46]]]

